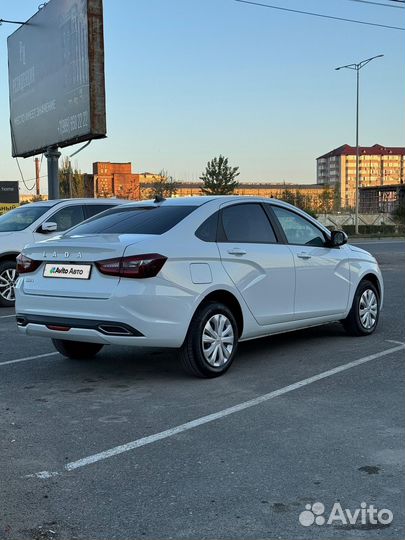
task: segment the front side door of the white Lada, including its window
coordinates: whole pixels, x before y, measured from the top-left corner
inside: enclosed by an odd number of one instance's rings
[[[330,247],[322,229],[297,212],[276,204],[271,208],[294,256],[295,318],[343,313],[350,290],[346,250]]]

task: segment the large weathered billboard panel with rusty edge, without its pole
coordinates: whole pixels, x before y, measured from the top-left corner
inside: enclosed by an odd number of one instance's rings
[[[14,157],[105,137],[102,0],[50,0],[7,45]]]

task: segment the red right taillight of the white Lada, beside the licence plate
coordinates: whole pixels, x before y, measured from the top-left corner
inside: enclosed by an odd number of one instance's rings
[[[167,257],[163,257],[163,255],[148,253],[119,259],[107,259],[95,264],[102,274],[140,279],[155,277],[166,261]]]

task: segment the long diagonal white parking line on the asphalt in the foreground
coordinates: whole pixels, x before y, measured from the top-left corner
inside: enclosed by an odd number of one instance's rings
[[[381,351],[379,353],[371,354],[369,356],[364,356],[363,358],[359,358],[358,360],[353,360],[352,362],[348,362],[347,364],[343,364],[333,369],[329,369],[328,371],[318,373],[318,375],[314,375],[312,377],[308,377],[307,379],[303,379],[302,381],[298,381],[294,384],[284,386],[283,388],[279,388],[278,390],[274,390],[273,392],[270,392],[268,394],[258,396],[257,398],[251,399],[249,401],[244,401],[243,403],[239,403],[238,405],[234,405],[233,407],[228,407],[227,409],[223,409],[222,411],[218,411],[216,413],[209,414],[207,416],[196,418],[195,420],[191,420],[190,422],[186,422],[185,424],[181,424],[179,426],[175,426],[165,431],[161,431],[160,433],[149,435],[148,437],[142,437],[141,439],[137,439],[135,441],[122,444],[120,446],[114,446],[113,448],[104,450],[103,452],[99,452],[91,456],[87,456],[82,459],[78,459],[77,461],[71,461],[70,463],[67,463],[66,465],[64,465],[63,470],[60,472],[40,471],[34,474],[29,474],[27,475],[27,477],[47,479],[47,478],[56,476],[58,474],[61,474],[62,472],[69,472],[75,469],[79,469],[80,467],[86,467],[87,465],[90,465],[92,463],[96,463],[98,461],[102,461],[104,459],[117,456],[118,454],[123,454],[124,452],[135,450],[136,448],[140,448],[141,446],[146,446],[148,444],[152,444],[154,442],[167,439],[168,437],[173,437],[174,435],[177,435],[178,433],[182,433],[184,431],[188,431],[189,429],[193,429],[198,426],[202,426],[204,424],[214,422],[215,420],[219,420],[226,416],[230,416],[231,414],[244,411],[245,409],[249,409],[250,407],[255,407],[256,405],[260,405],[261,403],[269,401],[270,399],[276,398],[278,396],[282,396],[284,394],[288,394],[289,392],[292,392],[293,390],[298,390],[299,388],[308,386],[309,384],[312,384],[314,382],[320,381],[322,379],[326,379],[328,377],[332,377],[333,375],[336,375],[337,373],[347,371],[348,369],[352,369],[354,367],[360,366],[367,362],[371,362],[372,360],[376,360],[377,358],[382,358],[383,356],[387,356],[389,354],[393,354],[395,352],[402,351],[404,349],[405,349],[405,345],[401,344],[397,347],[392,347],[391,349],[386,349],[385,351]]]

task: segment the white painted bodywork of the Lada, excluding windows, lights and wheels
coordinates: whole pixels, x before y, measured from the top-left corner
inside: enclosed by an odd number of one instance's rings
[[[351,246],[243,245],[196,237],[199,225],[224,203],[247,200],[271,201],[235,196],[173,199],[159,204],[200,206],[162,235],[75,236],[73,229],[69,238],[62,236],[27,246],[23,253],[34,260],[88,262],[93,268],[89,280],[44,278],[43,264],[22,275],[16,286],[19,316],[125,323],[142,336],[104,335],[97,329],[77,328],[73,324],[68,331],[51,330],[38,322],[28,322],[19,327],[20,331],[63,340],[177,348],[184,342],[198,306],[218,291],[232,295],[240,306],[241,341],[341,320],[347,316],[355,290],[367,274],[378,280],[382,298],[383,281],[375,259]],[[316,220],[295,208],[294,211],[327,233]],[[229,254],[233,247],[246,251],[247,257]],[[297,258],[297,252],[303,250],[309,251],[310,259]],[[147,253],[167,257],[156,277],[107,276],[93,264]]]

